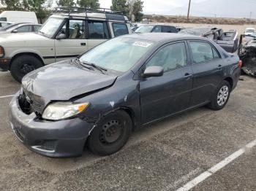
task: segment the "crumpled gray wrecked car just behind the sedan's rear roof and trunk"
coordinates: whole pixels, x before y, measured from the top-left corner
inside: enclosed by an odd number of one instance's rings
[[[219,44],[227,52],[233,53],[238,50],[238,32],[236,30],[224,32],[222,28],[198,27],[185,28],[178,33],[206,37]]]

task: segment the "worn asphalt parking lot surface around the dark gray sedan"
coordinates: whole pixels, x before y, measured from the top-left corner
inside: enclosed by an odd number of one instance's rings
[[[0,190],[176,190],[256,139],[256,79],[241,77],[225,109],[206,107],[132,134],[120,152],[53,159],[23,147],[8,122],[20,85],[0,72]],[[255,190],[256,148],[192,190]]]

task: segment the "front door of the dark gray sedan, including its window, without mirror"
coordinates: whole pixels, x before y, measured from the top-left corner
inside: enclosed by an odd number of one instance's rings
[[[140,109],[142,122],[187,109],[192,89],[192,69],[185,42],[167,44],[146,63],[162,66],[162,77],[149,77],[140,81]]]

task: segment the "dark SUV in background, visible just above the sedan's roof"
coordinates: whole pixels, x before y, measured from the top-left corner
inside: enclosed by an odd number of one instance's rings
[[[135,33],[178,33],[178,30],[175,26],[143,25]]]

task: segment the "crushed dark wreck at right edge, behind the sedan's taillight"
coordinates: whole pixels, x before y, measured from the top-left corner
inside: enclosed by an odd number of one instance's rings
[[[238,55],[243,61],[242,71],[256,77],[256,36],[241,35]]]

